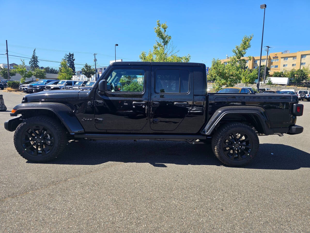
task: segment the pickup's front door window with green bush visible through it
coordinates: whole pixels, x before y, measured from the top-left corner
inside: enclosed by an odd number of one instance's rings
[[[143,92],[144,70],[141,69],[113,70],[107,79],[107,83],[108,83],[108,91]]]

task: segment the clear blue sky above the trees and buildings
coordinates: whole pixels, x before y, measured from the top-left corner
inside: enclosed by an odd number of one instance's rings
[[[259,56],[263,3],[263,46],[272,46],[271,52],[310,50],[310,1],[2,1],[0,53],[5,53],[7,39],[11,55],[29,57],[37,48],[39,59],[60,62],[74,52],[75,63],[93,65],[92,53],[98,53],[99,66],[107,66],[118,43],[117,58],[136,61],[141,51],[153,48],[153,27],[160,20],[167,22],[180,56],[189,53],[190,62],[211,66],[213,57],[230,56],[244,35],[254,34],[247,55]],[[6,62],[0,55],[0,63]],[[78,64],[76,70],[82,67]]]

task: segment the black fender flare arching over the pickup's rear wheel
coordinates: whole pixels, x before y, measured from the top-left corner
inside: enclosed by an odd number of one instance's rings
[[[241,114],[241,115],[251,115],[255,116],[255,119],[258,120],[258,123],[263,129],[265,135],[273,134],[273,130],[270,128],[270,121],[262,107],[257,106],[228,106],[220,107],[216,110],[210,120],[202,127],[201,134],[211,135],[216,125],[219,121],[228,114]]]

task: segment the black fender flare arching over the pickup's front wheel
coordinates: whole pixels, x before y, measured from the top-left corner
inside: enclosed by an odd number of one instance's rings
[[[49,112],[54,113],[60,119],[60,121],[64,124],[64,126],[66,127],[66,129],[69,131],[70,134],[85,132],[80,121],[75,116],[75,113],[74,113],[75,109],[73,106],[69,107],[68,105],[63,104],[63,103],[51,103],[51,102],[42,103],[40,102],[40,103],[22,103],[22,104],[16,105],[13,109],[16,109],[16,112],[11,113],[10,114],[11,116],[17,116],[18,114],[22,114],[24,112],[32,111],[32,110],[49,111]],[[11,120],[16,121],[15,118]],[[9,131],[14,131],[15,129],[13,128],[11,127]]]

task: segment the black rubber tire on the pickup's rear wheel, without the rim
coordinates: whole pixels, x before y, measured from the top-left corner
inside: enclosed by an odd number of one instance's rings
[[[238,131],[238,130],[243,131],[248,136],[250,136],[250,138],[253,141],[253,148],[252,148],[250,155],[247,158],[241,161],[233,161],[224,154],[222,143],[227,135],[229,135],[230,133],[234,131]],[[233,122],[233,123],[227,123],[219,127],[215,131],[212,137],[211,146],[212,146],[213,153],[222,163],[229,165],[229,166],[237,167],[237,166],[243,166],[246,163],[253,160],[253,158],[255,158],[259,150],[259,139],[255,131],[250,126],[243,124],[243,123],[239,123],[239,122]]]

